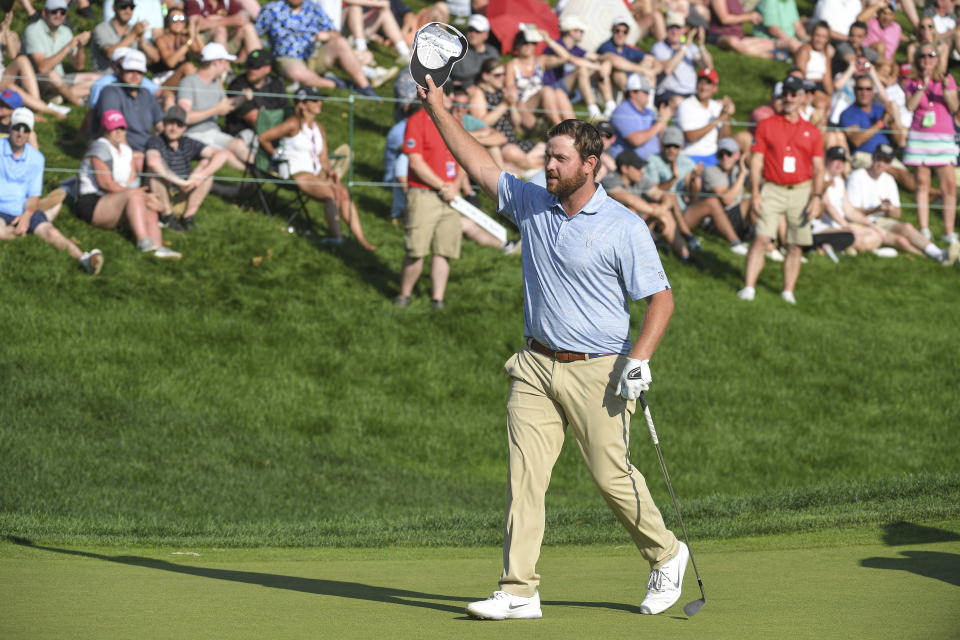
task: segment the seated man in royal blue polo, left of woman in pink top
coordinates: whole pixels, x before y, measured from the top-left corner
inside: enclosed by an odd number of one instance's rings
[[[881,144],[891,144],[891,138],[885,131],[897,132],[892,135],[898,147],[903,147],[907,140],[896,106],[887,100],[883,91],[876,90],[876,77],[875,73],[854,77],[854,103],[840,114],[840,126],[850,145],[854,169],[869,167],[873,162],[874,150]],[[906,171],[902,164],[900,169]]]

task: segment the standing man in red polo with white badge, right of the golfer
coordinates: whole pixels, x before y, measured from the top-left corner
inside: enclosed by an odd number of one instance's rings
[[[750,186],[757,237],[747,254],[745,286],[741,300],[753,300],[764,254],[777,237],[783,215],[787,217],[787,258],[783,262],[785,301],[796,304],[793,288],[800,274],[802,247],[813,244],[810,221],[823,205],[823,138],[820,130],[800,117],[803,80],[788,76],[783,81],[783,111],[760,121],[750,158]],[[765,180],[760,188],[760,178]]]

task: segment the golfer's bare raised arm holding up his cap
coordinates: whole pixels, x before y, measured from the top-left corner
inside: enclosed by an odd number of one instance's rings
[[[444,108],[443,91],[433,84],[433,78],[428,75],[427,89],[417,87],[417,93],[456,161],[491,200],[499,202],[497,182],[500,180],[500,167],[494,162],[490,153],[466,132],[453,114]]]

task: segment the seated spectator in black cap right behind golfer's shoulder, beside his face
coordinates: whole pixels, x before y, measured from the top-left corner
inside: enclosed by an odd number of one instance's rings
[[[646,161],[631,149],[617,156],[617,170],[604,178],[603,188],[611,198],[627,207],[657,231],[683,261],[690,259],[690,250],[677,233],[676,198],[662,193],[653,181],[644,175]]]

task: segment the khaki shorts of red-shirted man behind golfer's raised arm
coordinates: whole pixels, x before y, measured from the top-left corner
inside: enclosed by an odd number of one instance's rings
[[[460,214],[435,191],[413,188],[407,192],[407,223],[403,246],[407,258],[460,257]]]

